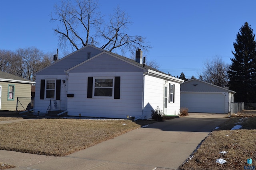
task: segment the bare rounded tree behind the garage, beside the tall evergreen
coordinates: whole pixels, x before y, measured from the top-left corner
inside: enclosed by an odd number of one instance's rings
[[[220,57],[204,62],[202,80],[220,87],[228,85],[228,64],[225,64]]]

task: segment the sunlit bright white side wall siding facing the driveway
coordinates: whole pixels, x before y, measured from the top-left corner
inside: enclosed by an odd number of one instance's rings
[[[166,80],[163,80],[162,78],[146,75],[144,88],[144,115],[147,115],[147,118],[151,116],[152,109],[156,109],[157,107],[164,109],[164,85],[168,87],[169,83],[175,84],[175,96],[174,103],[168,102],[167,113],[165,113],[165,115],[178,115],[180,109],[180,84],[171,81],[166,82]]]

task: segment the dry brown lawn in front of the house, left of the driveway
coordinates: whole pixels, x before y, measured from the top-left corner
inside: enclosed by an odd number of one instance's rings
[[[150,122],[154,121],[146,123]],[[65,156],[139,128],[145,122],[137,123],[124,119],[35,119],[1,124],[0,149]]]

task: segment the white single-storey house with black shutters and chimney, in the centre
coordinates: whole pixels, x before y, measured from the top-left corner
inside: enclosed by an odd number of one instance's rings
[[[158,106],[177,115],[183,80],[142,64],[140,49],[136,61],[87,45],[36,72],[34,111],[54,103],[70,116],[146,119]]]

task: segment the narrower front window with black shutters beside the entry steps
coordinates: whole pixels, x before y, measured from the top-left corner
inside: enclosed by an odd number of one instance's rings
[[[41,80],[40,99],[60,100],[61,80]]]

